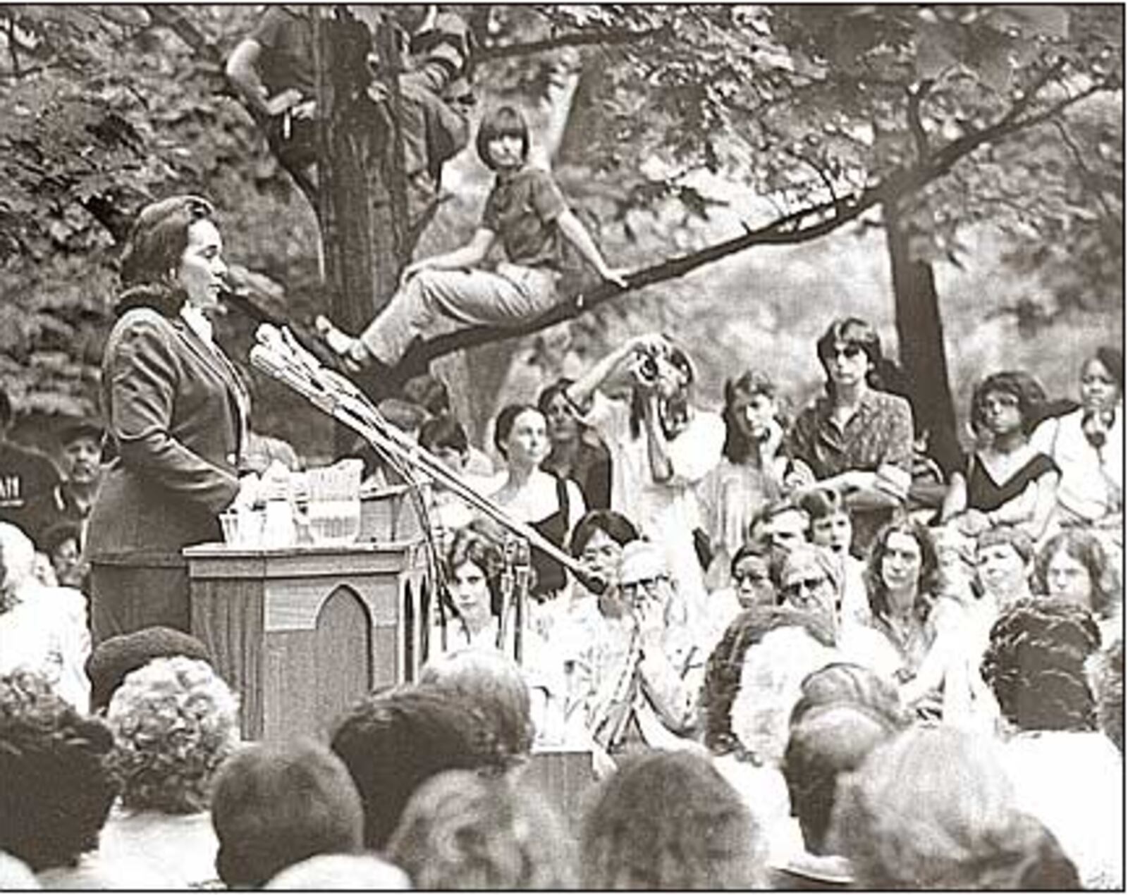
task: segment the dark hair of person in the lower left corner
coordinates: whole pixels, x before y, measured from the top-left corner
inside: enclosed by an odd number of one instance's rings
[[[39,871],[96,849],[117,795],[113,745],[39,675],[0,675],[0,851]]]

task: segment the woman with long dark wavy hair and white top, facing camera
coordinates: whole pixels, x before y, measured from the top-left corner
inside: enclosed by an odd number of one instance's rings
[[[851,628],[843,649],[851,661],[867,665],[901,685],[901,699],[925,715],[964,707],[966,680],[949,679],[966,667],[964,618],[953,600],[936,599],[936,550],[928,530],[900,516],[874,539],[866,567],[870,612],[867,627]],[[845,633],[845,632],[844,632]],[[961,690],[961,692],[957,692]],[[944,709],[938,705],[943,691]]]

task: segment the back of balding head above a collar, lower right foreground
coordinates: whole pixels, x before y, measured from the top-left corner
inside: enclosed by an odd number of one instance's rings
[[[838,778],[857,770],[895,733],[887,718],[848,702],[811,709],[791,728],[782,770],[791,813],[812,854],[825,853]]]

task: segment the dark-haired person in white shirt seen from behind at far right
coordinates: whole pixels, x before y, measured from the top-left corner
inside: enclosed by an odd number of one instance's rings
[[[1123,762],[1096,729],[1085,674],[1099,646],[1082,606],[1023,601],[992,628],[982,676],[1007,723],[1004,763],[1020,806],[1057,836],[1086,888],[1121,888]]]

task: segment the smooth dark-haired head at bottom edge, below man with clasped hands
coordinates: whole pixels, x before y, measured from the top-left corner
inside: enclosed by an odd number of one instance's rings
[[[590,805],[580,883],[605,890],[757,888],[764,850],[740,795],[707,757],[658,751],[624,764]]]

